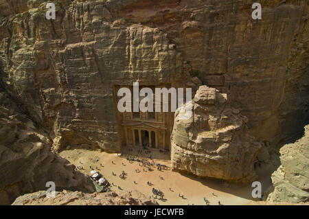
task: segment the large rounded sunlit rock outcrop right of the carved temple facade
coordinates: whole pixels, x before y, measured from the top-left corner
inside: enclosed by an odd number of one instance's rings
[[[227,95],[201,86],[192,100],[192,116],[175,113],[172,166],[197,176],[253,181],[253,163],[262,148],[246,130],[247,117],[231,108]]]

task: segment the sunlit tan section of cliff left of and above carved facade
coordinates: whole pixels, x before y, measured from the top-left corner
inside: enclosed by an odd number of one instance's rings
[[[27,99],[56,150],[88,143],[119,151],[113,85],[177,83],[189,75],[181,57],[166,34],[114,19],[102,1],[75,1],[52,22],[42,8],[4,19],[3,81]]]

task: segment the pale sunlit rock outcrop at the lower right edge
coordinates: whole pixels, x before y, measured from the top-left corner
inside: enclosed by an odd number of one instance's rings
[[[273,173],[274,190],[268,202],[299,203],[309,200],[309,125],[305,135],[280,149],[282,165]]]

